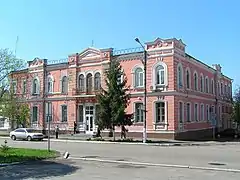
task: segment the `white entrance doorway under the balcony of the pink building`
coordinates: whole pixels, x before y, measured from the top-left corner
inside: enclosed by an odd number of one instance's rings
[[[92,105],[86,106],[86,134],[93,134],[94,131],[94,118],[93,118],[94,107]]]

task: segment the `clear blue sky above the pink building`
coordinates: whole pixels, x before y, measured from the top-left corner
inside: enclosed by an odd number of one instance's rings
[[[26,60],[61,59],[91,46],[124,49],[134,41],[181,38],[186,51],[240,84],[238,0],[6,0],[0,48]]]

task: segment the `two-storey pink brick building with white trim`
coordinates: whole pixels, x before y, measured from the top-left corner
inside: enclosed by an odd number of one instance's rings
[[[185,44],[175,38],[158,38],[146,43],[146,49],[148,137],[201,138],[210,134],[214,117],[218,128],[231,127],[232,80],[221,73],[220,65],[210,67],[194,59],[185,52]],[[126,112],[134,113],[128,133],[140,137],[142,58],[141,51],[87,48],[63,63],[34,59],[28,69],[14,72],[12,80],[17,96],[29,103],[33,127],[48,128],[46,121],[50,118],[51,128],[59,125],[62,130],[72,130],[76,121],[80,133],[94,134],[98,109],[95,94],[100,86],[105,87],[108,63],[118,60],[130,86]]]

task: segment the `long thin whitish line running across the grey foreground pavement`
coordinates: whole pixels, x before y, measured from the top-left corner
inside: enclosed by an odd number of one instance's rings
[[[116,161],[116,160],[108,160],[108,159],[81,158],[81,157],[73,157],[73,156],[70,156],[69,159],[82,160],[82,161],[95,161],[95,162],[102,162],[102,163],[131,164],[131,165],[142,165],[142,166],[159,166],[159,167],[172,167],[172,168],[184,168],[184,169],[197,169],[197,170],[240,173],[240,169],[230,169],[230,168],[201,167],[201,166],[179,165],[179,164],[159,164],[159,163],[134,162],[134,161]]]

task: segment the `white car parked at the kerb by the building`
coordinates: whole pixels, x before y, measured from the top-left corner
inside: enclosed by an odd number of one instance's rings
[[[10,138],[12,140],[21,139],[21,140],[43,140],[44,135],[37,132],[34,129],[30,128],[18,128],[10,132]]]

